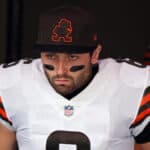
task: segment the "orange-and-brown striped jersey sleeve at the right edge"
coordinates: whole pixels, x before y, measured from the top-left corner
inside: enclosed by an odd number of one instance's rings
[[[150,142],[150,86],[144,92],[138,114],[130,130],[137,143]]]

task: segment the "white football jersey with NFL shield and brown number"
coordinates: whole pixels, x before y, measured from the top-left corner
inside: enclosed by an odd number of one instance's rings
[[[133,150],[150,121],[137,118],[146,68],[101,60],[69,101],[50,86],[40,59],[10,65],[0,68],[0,121],[16,132],[19,150]]]

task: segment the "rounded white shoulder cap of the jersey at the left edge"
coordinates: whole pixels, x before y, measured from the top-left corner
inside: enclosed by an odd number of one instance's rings
[[[20,79],[21,61],[0,65],[0,89],[13,86]]]

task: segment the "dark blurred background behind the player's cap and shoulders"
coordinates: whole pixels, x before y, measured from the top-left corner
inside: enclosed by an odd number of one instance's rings
[[[36,40],[40,12],[61,4],[79,5],[98,18],[103,42],[101,58],[130,57],[143,61],[150,45],[148,4],[134,0],[0,0],[0,63],[38,57]]]

